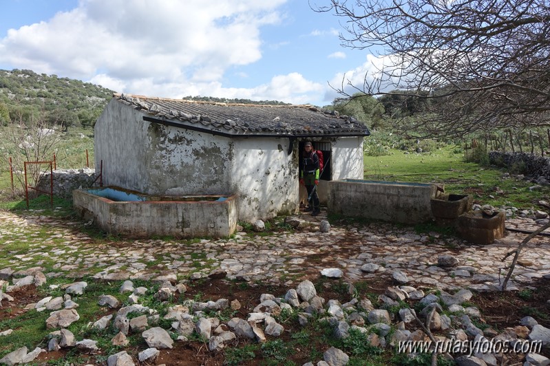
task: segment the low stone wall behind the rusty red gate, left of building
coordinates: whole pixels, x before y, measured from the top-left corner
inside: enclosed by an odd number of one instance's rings
[[[92,187],[96,180],[95,169],[58,169],[53,172],[54,175],[54,195],[63,198],[72,199],[74,189],[85,189]],[[94,186],[98,186],[98,182]],[[42,177],[38,184],[42,191],[50,191],[50,172],[48,171]]]

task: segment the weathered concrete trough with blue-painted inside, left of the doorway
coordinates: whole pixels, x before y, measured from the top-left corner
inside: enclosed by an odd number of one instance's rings
[[[228,237],[237,228],[234,196],[145,195],[118,187],[77,189],[78,215],[125,237]]]

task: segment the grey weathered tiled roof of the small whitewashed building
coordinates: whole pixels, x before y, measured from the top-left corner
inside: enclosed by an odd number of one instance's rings
[[[368,136],[366,125],[310,105],[245,105],[114,94],[158,120],[181,127],[222,131],[235,136],[277,134],[283,136]],[[172,124],[174,125],[174,124]]]

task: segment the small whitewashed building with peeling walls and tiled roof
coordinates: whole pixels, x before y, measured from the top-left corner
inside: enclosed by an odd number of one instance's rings
[[[236,195],[238,219],[296,213],[299,155],[324,181],[363,178],[363,123],[310,105],[242,105],[115,94],[95,126],[104,186],[149,195]]]

